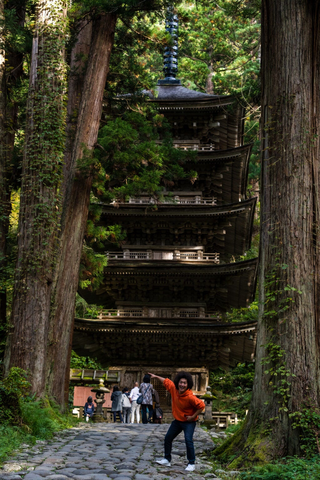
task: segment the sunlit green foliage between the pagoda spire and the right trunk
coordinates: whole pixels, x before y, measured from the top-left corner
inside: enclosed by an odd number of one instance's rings
[[[216,95],[239,94],[259,105],[259,13],[250,19],[231,16],[225,2],[185,7],[180,28],[182,81],[204,90],[210,78]]]

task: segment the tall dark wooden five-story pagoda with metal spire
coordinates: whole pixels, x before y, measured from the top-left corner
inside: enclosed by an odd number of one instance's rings
[[[106,310],[96,320],[76,319],[73,348],[120,368],[129,386],[146,370],[168,376],[183,368],[204,390],[208,368],[253,359],[256,324],[226,323],[223,315],[254,299],[258,259],[231,260],[250,248],[256,198],[246,195],[243,109],[233,96],[176,79],[177,27],[171,13],[166,78],[149,97],[169,121],[174,146],[197,152],[198,176],[165,187],[157,209],[147,194],[103,206],[102,220],[121,225],[127,238],[120,252],[107,252],[103,284],[86,297]]]

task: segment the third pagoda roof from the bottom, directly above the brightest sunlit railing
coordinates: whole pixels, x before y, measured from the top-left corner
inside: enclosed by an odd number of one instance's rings
[[[161,205],[156,211],[146,209],[144,205],[122,204],[119,208],[104,205],[102,218],[108,223],[122,225],[127,231],[127,242],[131,242],[132,246],[136,243],[137,228],[141,228],[144,236],[148,230],[149,241],[154,242],[153,248],[157,247],[159,230],[167,230],[167,242],[172,245],[177,241],[177,232],[180,244],[184,245],[183,235],[188,230],[191,232],[188,234],[191,235],[190,245],[200,242],[207,253],[217,251],[238,255],[250,248],[256,200],[250,198],[219,206]]]

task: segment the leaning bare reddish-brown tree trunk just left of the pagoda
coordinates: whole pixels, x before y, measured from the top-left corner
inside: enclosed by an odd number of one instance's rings
[[[72,150],[68,149],[66,152],[62,235],[47,358],[49,393],[60,405],[63,405],[65,400],[66,370],[69,376],[75,294],[94,173],[91,159],[98,135],[116,21],[117,16],[113,13],[100,15],[94,20]],[[83,42],[87,43],[84,39]],[[77,91],[69,92],[70,102],[76,105],[79,84],[73,86]],[[74,110],[77,110],[77,107],[68,107],[69,112]],[[70,127],[69,131],[71,130]]]

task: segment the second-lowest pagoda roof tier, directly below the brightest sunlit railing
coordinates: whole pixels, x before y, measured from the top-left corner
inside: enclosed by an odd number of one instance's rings
[[[89,303],[114,308],[121,302],[144,305],[176,303],[187,298],[209,311],[230,311],[254,300],[258,258],[228,264],[174,260],[109,260],[95,292],[80,290]]]

